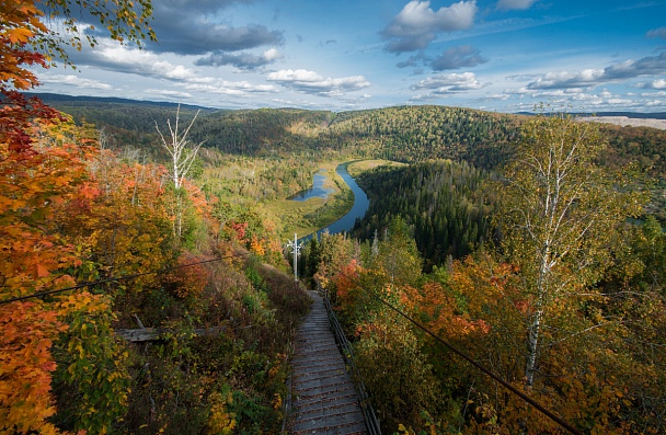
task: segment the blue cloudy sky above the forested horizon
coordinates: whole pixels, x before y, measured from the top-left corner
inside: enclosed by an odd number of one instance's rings
[[[666,112],[666,0],[152,3],[157,43],[99,34],[70,53],[77,70],[38,70],[38,91],[219,108]]]

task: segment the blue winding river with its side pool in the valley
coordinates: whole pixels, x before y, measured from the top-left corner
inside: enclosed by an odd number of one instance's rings
[[[352,207],[349,213],[347,213],[346,215],[344,215],[343,217],[341,217],[333,224],[329,225],[328,227],[324,227],[324,228],[320,229],[319,231],[317,231],[318,237],[321,236],[321,233],[324,232],[325,230],[329,230],[329,232],[332,234],[337,233],[337,232],[343,232],[343,231],[349,231],[354,227],[354,222],[356,221],[356,219],[363,218],[365,216],[366,211],[368,210],[368,206],[370,205],[370,202],[368,201],[368,195],[366,195],[366,193],[358,186],[358,184],[356,184],[356,181],[354,180],[354,178],[352,175],[349,175],[349,173],[347,172],[347,165],[349,165],[349,163],[353,163],[353,162],[346,162],[346,163],[338,164],[337,168],[335,168],[335,173],[338,174],[340,176],[342,176],[344,182],[347,183],[347,185],[354,193],[354,206]],[[290,199],[306,201],[306,199],[308,199],[310,197],[314,197],[314,196],[320,196],[320,197],[325,198],[330,192],[323,194],[323,196],[322,196],[322,191],[324,191],[324,190],[321,188],[321,186],[323,186],[323,182],[324,182],[324,175],[322,175],[320,173],[315,174],[314,175],[314,185],[312,186],[312,188],[299,192],[298,194],[294,195]],[[317,188],[317,187],[319,187],[319,188]],[[312,238],[312,236],[313,234],[308,234],[306,237],[301,237],[298,240],[302,241],[302,242],[307,242],[308,240],[310,240]]]

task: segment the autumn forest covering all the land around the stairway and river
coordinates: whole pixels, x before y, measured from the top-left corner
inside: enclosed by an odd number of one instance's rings
[[[143,15],[110,4],[140,42]],[[666,431],[666,131],[41,100],[30,67],[62,42],[33,1],[1,11],[0,434],[284,433],[306,289],[386,434],[566,433],[514,391],[573,433]],[[310,239],[295,284],[296,222],[271,206],[363,159],[406,164],[356,175],[370,209]]]

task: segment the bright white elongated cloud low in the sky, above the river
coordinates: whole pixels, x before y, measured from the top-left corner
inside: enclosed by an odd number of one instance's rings
[[[370,85],[370,82],[363,76],[324,78],[314,71],[305,69],[283,69],[271,72],[266,79],[285,88],[321,96],[340,96]]]

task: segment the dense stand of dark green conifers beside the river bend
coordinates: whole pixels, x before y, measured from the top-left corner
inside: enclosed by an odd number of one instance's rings
[[[447,259],[461,259],[489,238],[491,205],[481,190],[489,176],[464,161],[450,160],[363,173],[358,183],[368,193],[370,208],[353,236],[374,239],[402,216],[412,227],[427,272]]]

